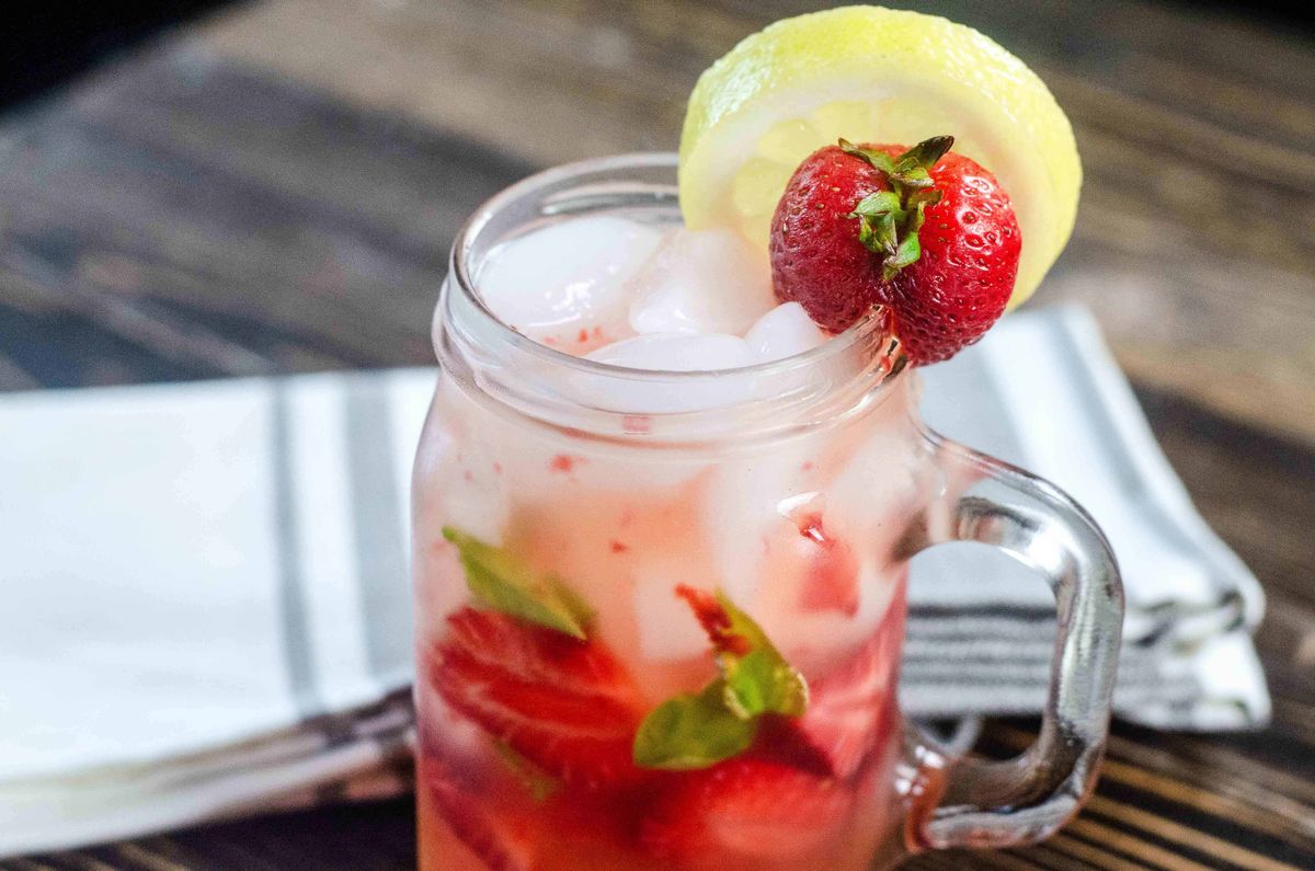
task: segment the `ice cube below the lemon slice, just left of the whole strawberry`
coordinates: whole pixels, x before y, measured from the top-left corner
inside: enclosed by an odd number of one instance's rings
[[[635,278],[630,328],[742,336],[773,305],[763,251],[732,230],[680,229]]]

